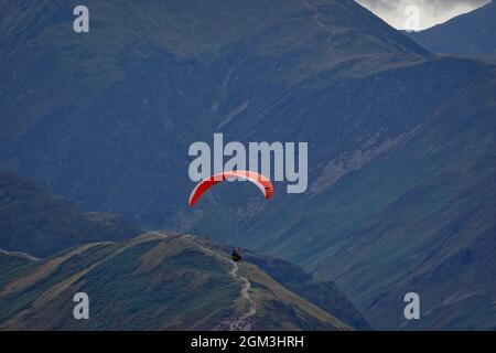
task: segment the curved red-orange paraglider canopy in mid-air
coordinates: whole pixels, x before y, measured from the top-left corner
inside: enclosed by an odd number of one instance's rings
[[[270,199],[273,195],[273,186],[269,179],[256,172],[237,170],[218,173],[201,181],[190,195],[190,206],[193,207],[196,204],[196,202],[198,202],[198,200],[202,197],[202,195],[215,184],[235,178],[245,179],[256,184],[263,193],[263,196],[266,199]]]

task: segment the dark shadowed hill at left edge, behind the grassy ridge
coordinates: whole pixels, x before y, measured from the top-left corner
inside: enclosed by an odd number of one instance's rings
[[[0,248],[47,256],[96,240],[122,240],[138,231],[120,216],[84,212],[39,183],[0,172]]]

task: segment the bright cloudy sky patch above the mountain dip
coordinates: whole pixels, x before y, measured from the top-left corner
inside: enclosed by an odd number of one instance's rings
[[[448,21],[461,13],[470,12],[490,0],[356,0],[393,28],[406,26],[423,30]],[[409,7],[417,7],[418,11]],[[409,11],[409,14],[405,12]],[[411,14],[419,13],[419,21],[412,21]],[[409,20],[410,19],[410,20]],[[407,24],[410,23],[410,24]],[[412,25],[411,23],[417,23]]]

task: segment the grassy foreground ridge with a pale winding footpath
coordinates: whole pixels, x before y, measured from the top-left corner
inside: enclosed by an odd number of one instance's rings
[[[260,267],[190,235],[151,232],[47,259],[2,252],[0,261],[2,330],[351,330]],[[79,291],[89,320],[73,318]],[[357,322],[349,303],[339,314]]]

